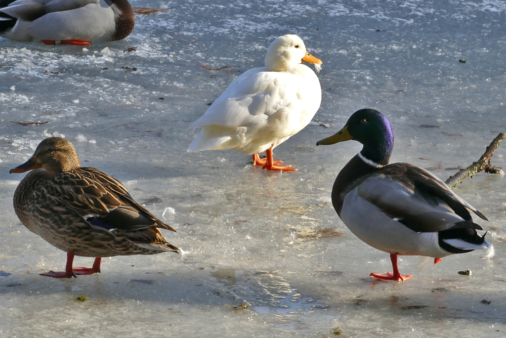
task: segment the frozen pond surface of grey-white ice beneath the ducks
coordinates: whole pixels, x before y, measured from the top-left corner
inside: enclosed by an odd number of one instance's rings
[[[137,15],[125,40],[84,49],[0,40],[0,337],[327,337],[338,326],[346,337],[506,334],[504,240],[488,237],[492,259],[403,257],[411,280],[372,280],[391,270],[388,255],[352,235],[330,203],[360,145],[315,146],[369,107],[392,123],[393,161],[445,180],[477,160],[506,131],[503,1],[132,5],[173,9]],[[299,171],[254,169],[234,151],[188,154],[188,125],[236,76],[263,66],[285,33],[324,62],[315,123],[275,149]],[[173,207],[165,221],[178,233],[164,235],[187,254],[113,257],[102,274],[77,279],[39,276],[61,271],[65,254],[18,221],[22,175],[9,170],[53,135],[158,217]],[[493,163],[505,166],[505,156],[503,145]],[[478,222],[485,229],[506,231],[503,176],[479,174],[457,193],[489,218]],[[470,277],[457,274],[466,269]],[[74,301],[81,293],[88,301]]]

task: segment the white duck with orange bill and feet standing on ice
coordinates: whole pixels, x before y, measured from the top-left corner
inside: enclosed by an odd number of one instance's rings
[[[319,66],[297,35],[276,38],[265,57],[265,67],[237,77],[227,90],[190,125],[202,127],[188,152],[234,149],[253,155],[264,169],[293,171],[274,161],[272,150],[309,124],[320,107],[318,77],[301,62]],[[266,151],[267,158],[259,153]]]

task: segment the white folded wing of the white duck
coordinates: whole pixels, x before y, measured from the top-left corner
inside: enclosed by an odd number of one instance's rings
[[[292,74],[267,72],[265,68],[250,69],[236,78],[190,128],[265,123],[280,109],[295,106],[305,99],[301,94],[303,87],[302,81]]]

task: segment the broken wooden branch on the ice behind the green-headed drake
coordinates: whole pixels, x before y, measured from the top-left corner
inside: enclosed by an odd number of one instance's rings
[[[473,162],[467,168],[460,169],[458,173],[451,176],[448,180],[446,180],[446,185],[450,187],[450,189],[455,189],[455,187],[460,184],[463,180],[468,177],[473,177],[479,172],[485,171],[488,174],[500,174],[502,173],[501,167],[496,167],[490,163],[490,157],[492,157],[495,149],[499,147],[502,140],[506,138],[506,134],[500,133],[497,137],[490,143],[487,147],[487,150],[481,155],[480,159],[477,162]]]

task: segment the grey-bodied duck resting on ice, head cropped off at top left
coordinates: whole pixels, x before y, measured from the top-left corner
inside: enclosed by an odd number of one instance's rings
[[[0,0],[0,36],[46,45],[91,45],[128,36],[128,0]]]

